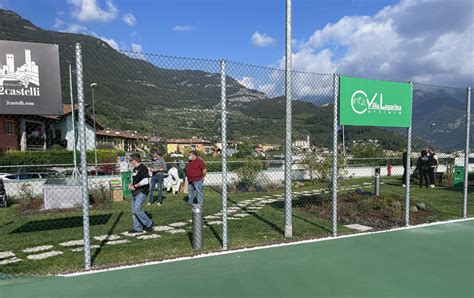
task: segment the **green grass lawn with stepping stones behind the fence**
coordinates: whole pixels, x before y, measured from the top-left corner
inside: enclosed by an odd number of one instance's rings
[[[404,197],[404,189],[397,184],[397,180],[397,178],[383,179],[383,196]],[[341,181],[341,185],[360,185],[361,182],[363,181],[356,179],[345,180]],[[304,186],[294,188],[294,191],[309,191],[323,187],[324,185],[321,183],[305,183]],[[371,190],[372,186],[365,186],[364,189]],[[429,190],[417,187],[412,189],[412,199],[427,205],[427,208],[433,212],[433,221],[461,216],[462,192],[446,187]],[[229,193],[228,206],[244,200],[281,194],[281,190],[271,193]],[[321,196],[329,198],[330,194]],[[471,202],[473,196],[473,193],[470,193]],[[145,206],[144,209],[151,214],[157,226],[186,222],[191,219],[191,208],[185,205],[183,198],[182,194],[168,194],[162,206]],[[251,213],[250,216],[229,220],[229,248],[330,236],[332,230],[330,220],[317,218],[304,209],[298,208],[298,203],[304,201],[305,198],[299,195],[293,197],[295,205],[293,208],[294,237],[291,240],[284,238],[284,204],[280,197],[279,201],[266,204],[262,209]],[[19,215],[18,211],[18,204],[0,209],[0,252],[12,251],[16,257],[23,261],[0,265],[0,272],[11,275],[47,275],[82,270],[83,252],[74,252],[70,247],[59,245],[61,242],[82,239],[82,213],[80,210],[32,215]],[[220,193],[213,188],[205,188],[204,214],[212,215],[220,211]],[[121,233],[130,230],[132,226],[130,202],[128,201],[113,203],[108,209],[91,209],[90,215],[91,244],[98,245],[98,248],[91,251],[95,267],[132,264],[218,251],[221,247],[222,226],[218,224],[208,225],[205,228],[204,248],[199,252],[194,251],[191,247],[191,225],[189,223],[182,228],[185,232],[177,234],[157,232],[156,234],[161,236],[157,239],[141,240],[123,236]],[[468,215],[474,215],[472,204],[469,205]],[[339,226],[338,229],[340,233],[354,232],[344,226]],[[94,239],[94,236],[112,234],[119,235],[121,239],[127,239],[129,242],[109,245],[105,241]],[[51,250],[61,251],[63,254],[44,260],[29,260],[27,255],[31,255],[31,253],[22,251],[25,248],[41,245],[53,245]]]

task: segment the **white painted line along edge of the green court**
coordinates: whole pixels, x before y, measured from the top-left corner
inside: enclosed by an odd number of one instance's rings
[[[90,270],[90,271],[83,271],[83,272],[60,274],[60,275],[57,275],[57,276],[60,276],[60,277],[74,277],[74,276],[81,276],[81,275],[89,275],[89,274],[96,274],[96,273],[102,273],[102,272],[118,271],[118,270],[124,270],[124,269],[131,269],[131,268],[139,268],[139,267],[166,264],[166,263],[181,262],[181,261],[186,261],[186,260],[201,259],[201,258],[207,258],[207,257],[213,257],[213,256],[236,254],[236,253],[246,252],[246,251],[255,251],[255,250],[268,249],[268,248],[285,247],[285,246],[292,246],[292,245],[299,245],[299,244],[306,244],[306,243],[315,243],[315,242],[330,241],[330,240],[339,240],[339,239],[346,239],[346,238],[360,237],[360,236],[367,236],[367,235],[374,235],[374,234],[383,234],[383,233],[389,233],[389,232],[418,229],[418,228],[423,228],[423,227],[444,225],[444,224],[471,221],[471,220],[474,220],[474,217],[463,218],[463,219],[454,219],[454,220],[448,220],[448,221],[440,221],[440,222],[432,222],[432,223],[426,223],[426,224],[421,224],[421,225],[416,225],[416,226],[394,228],[394,229],[384,230],[384,231],[364,232],[364,233],[343,235],[343,236],[337,236],[337,237],[326,237],[326,238],[319,238],[319,239],[301,240],[301,241],[296,241],[296,242],[291,242],[291,243],[279,243],[279,244],[272,244],[272,245],[266,245],[266,246],[257,246],[257,247],[251,247],[251,248],[241,248],[241,249],[236,249],[236,250],[212,252],[212,253],[205,253],[205,254],[190,256],[190,257],[179,257],[179,258],[174,258],[174,259],[146,262],[146,263],[134,264],[134,265],[119,266],[119,267],[113,267],[113,268],[107,268],[107,269],[97,269],[97,270]]]

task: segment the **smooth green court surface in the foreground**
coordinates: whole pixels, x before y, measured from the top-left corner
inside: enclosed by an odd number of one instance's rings
[[[0,297],[474,297],[474,221],[25,280]]]

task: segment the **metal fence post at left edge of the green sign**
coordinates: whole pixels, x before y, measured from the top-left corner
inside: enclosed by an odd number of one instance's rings
[[[339,99],[339,77],[333,75],[334,119],[332,130],[332,235],[337,236],[337,109]]]

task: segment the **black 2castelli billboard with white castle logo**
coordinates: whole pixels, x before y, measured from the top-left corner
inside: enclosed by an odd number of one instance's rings
[[[0,114],[62,114],[58,45],[0,40]]]

